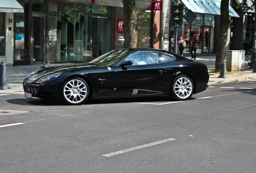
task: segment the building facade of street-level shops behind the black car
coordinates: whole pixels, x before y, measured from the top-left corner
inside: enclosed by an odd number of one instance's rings
[[[169,41],[175,30],[171,21],[173,1],[136,0],[137,47],[170,50]],[[10,3],[0,4],[0,58],[7,65],[42,64],[43,61],[86,62],[110,50],[123,48],[122,0],[6,2]],[[248,33],[245,17],[237,14],[239,10],[235,9],[239,2],[231,2],[233,5],[229,6],[229,10],[232,12],[230,16],[233,25],[231,24],[229,32],[229,47],[231,50],[237,50],[237,47],[243,48]],[[199,40],[197,53],[216,53],[221,0],[180,0],[179,3],[186,7],[184,14],[191,10],[196,15],[192,22],[183,18],[178,26],[178,37],[182,36],[187,43],[185,56],[189,54],[194,34]],[[16,4],[15,10],[2,10],[8,6],[12,8],[13,4]],[[12,22],[9,22],[9,19],[12,19]],[[243,34],[235,34],[236,30]]]

